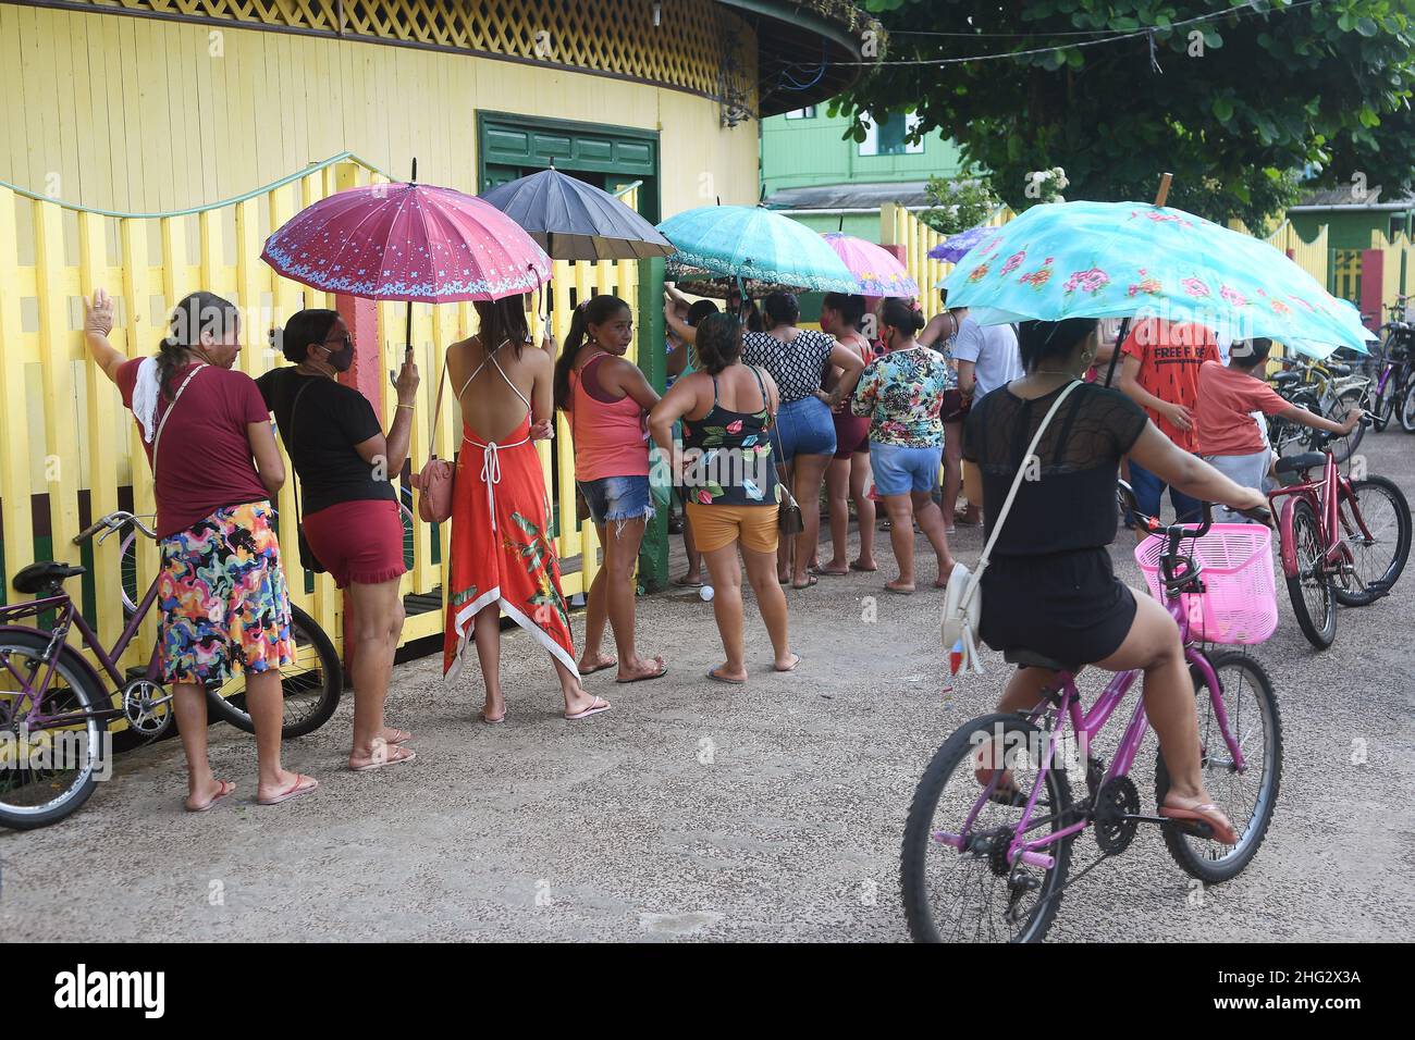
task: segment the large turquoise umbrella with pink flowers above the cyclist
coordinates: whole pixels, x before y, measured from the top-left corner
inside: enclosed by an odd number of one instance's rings
[[[1266,242],[1148,202],[1036,205],[940,286],[983,324],[1071,317],[1193,321],[1309,354],[1375,338],[1360,314]]]

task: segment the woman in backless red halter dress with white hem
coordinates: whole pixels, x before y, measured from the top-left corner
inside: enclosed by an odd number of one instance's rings
[[[477,304],[478,334],[447,351],[461,406],[463,440],[453,481],[451,567],[443,671],[454,681],[475,642],[487,685],[485,722],[505,719],[501,613],[550,654],[565,717],[608,710],[580,686],[560,562],[549,536],[545,474],[535,440],[549,436],[552,358],[531,342],[524,297]]]

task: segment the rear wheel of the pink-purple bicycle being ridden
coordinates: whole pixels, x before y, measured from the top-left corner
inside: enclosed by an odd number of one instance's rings
[[[1006,750],[1017,787],[1030,792],[1049,734],[1020,715],[983,715],[954,730],[928,763],[904,825],[900,877],[904,920],[918,942],[1040,942],[1061,903],[1073,839],[1046,848],[1054,857],[1050,869],[1009,867],[1007,843],[1022,819],[1020,808],[983,802],[968,829],[966,848],[938,838],[962,833],[982,792],[974,777],[978,749],[992,739]],[[1047,770],[1029,833],[1040,838],[1063,829],[1070,809],[1065,771]]]

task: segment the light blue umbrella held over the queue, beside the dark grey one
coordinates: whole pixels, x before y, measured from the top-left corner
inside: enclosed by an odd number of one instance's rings
[[[821,235],[771,209],[705,205],[669,216],[658,229],[676,246],[666,262],[676,282],[741,280],[751,296],[768,289],[860,291]]]

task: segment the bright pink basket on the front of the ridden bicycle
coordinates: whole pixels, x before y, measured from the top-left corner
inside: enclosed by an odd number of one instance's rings
[[[1165,601],[1159,557],[1165,539],[1150,535],[1135,546],[1150,593]],[[1203,566],[1203,593],[1183,593],[1190,638],[1199,642],[1262,642],[1278,630],[1278,591],[1272,532],[1261,524],[1214,524],[1208,533],[1180,542],[1182,553]]]

